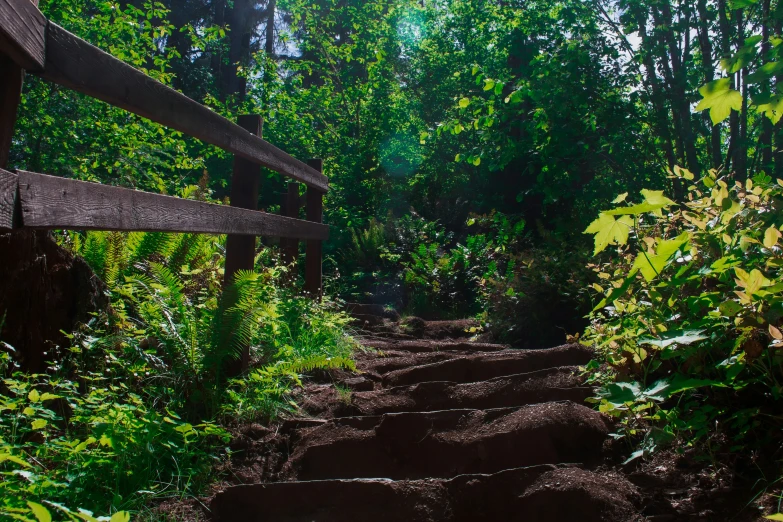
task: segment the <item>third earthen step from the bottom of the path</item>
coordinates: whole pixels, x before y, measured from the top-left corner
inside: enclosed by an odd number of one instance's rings
[[[593,394],[576,366],[547,368],[474,383],[424,382],[375,391],[343,392],[313,386],[303,403],[311,415],[348,417],[446,409],[490,409],[548,401],[582,403]]]

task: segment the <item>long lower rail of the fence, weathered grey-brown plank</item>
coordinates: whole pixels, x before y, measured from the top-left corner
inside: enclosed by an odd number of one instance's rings
[[[325,225],[241,208],[19,171],[22,223],[39,229],[138,230],[326,239]]]

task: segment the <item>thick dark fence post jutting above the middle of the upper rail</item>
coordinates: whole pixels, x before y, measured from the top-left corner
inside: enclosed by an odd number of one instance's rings
[[[259,115],[243,115],[237,123],[245,130],[261,137],[263,120]],[[258,210],[258,191],[261,185],[261,167],[252,161],[234,156],[234,172],[231,176],[231,206]],[[238,270],[252,270],[256,255],[255,236],[229,235],[226,239],[226,265],[223,284],[233,281]]]

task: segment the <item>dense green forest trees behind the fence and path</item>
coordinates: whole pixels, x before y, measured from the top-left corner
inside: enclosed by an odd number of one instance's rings
[[[294,156],[324,158],[333,187],[326,270],[352,300],[476,312],[474,283],[507,265],[476,260],[470,271],[465,255],[492,258],[489,246],[507,251],[512,241],[518,251],[578,245],[619,193],[683,195],[682,183],[667,180],[675,165],[737,179],[783,168],[780,17],[768,1],[42,9],[231,118],[261,114],[264,137]],[[200,183],[211,198],[228,195],[222,152],[35,79],[19,127],[17,167],[170,194]],[[283,189],[270,175],[262,208],[276,210]],[[467,250],[452,252],[457,245]],[[449,297],[457,289],[467,302]]]

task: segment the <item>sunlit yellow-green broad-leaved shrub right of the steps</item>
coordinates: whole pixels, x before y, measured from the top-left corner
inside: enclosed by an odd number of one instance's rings
[[[593,400],[618,437],[643,441],[632,458],[675,438],[763,445],[783,396],[783,180],[670,178],[681,201],[622,194],[585,231],[599,277],[583,338],[597,347]]]

